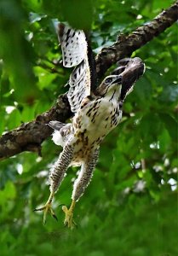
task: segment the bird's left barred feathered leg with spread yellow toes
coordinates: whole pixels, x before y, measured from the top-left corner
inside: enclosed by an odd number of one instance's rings
[[[72,156],[73,156],[73,146],[72,145],[67,145],[63,148],[63,151],[60,153],[59,159],[56,161],[54,169],[51,171],[49,175],[49,183],[50,183],[50,195],[49,195],[49,200],[46,202],[44,207],[37,208],[34,211],[44,211],[43,214],[43,224],[46,223],[46,216],[47,213],[50,212],[51,215],[57,219],[55,216],[55,212],[51,208],[51,204],[55,195],[55,192],[60,186],[60,183],[62,182],[67,167],[70,165],[72,161]]]

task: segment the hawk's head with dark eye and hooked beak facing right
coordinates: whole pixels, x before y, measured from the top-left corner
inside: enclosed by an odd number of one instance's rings
[[[122,76],[121,75],[110,75],[107,76],[100,86],[96,90],[96,94],[100,96],[106,96],[107,94],[112,93],[113,91],[121,92]]]

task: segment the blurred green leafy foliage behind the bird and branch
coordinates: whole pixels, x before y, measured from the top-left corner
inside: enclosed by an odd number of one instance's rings
[[[91,30],[98,53],[119,33],[152,20],[172,1],[0,1],[0,133],[49,109],[67,89],[55,21]],[[76,169],[55,195],[59,218],[32,210],[49,196],[50,166],[61,148],[43,143],[42,157],[22,153],[0,163],[0,255],[176,256],[177,24],[133,53],[146,63],[125,104],[123,121],[102,143],[92,182],[78,202],[78,229],[63,226]]]

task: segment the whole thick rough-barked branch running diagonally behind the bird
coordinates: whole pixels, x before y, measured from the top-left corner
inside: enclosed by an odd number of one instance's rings
[[[131,55],[135,49],[141,48],[157,37],[166,28],[178,20],[178,1],[169,9],[164,10],[155,19],[145,26],[138,27],[129,36],[119,36],[118,41],[111,47],[103,48],[96,56],[96,71],[101,78],[106,70],[120,59]],[[52,130],[45,124],[50,120],[65,122],[71,116],[66,95],[59,96],[55,106],[49,111],[37,116],[32,122],[22,124],[17,129],[9,131],[0,137],[0,160],[20,154],[23,151],[32,151],[41,154],[41,143],[49,137]]]

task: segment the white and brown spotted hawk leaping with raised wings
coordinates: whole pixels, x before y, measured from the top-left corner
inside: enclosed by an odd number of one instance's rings
[[[44,211],[44,223],[48,212],[56,218],[51,207],[55,192],[59,189],[67,168],[81,166],[73,185],[72,204],[69,208],[62,207],[66,214],[64,224],[72,228],[75,225],[74,207],[89,185],[99,157],[100,143],[120,122],[125,97],[144,73],[145,65],[140,58],[119,61],[120,67],[107,76],[93,93],[88,44],[84,32],[62,23],[58,25],[57,32],[64,67],[75,67],[68,82],[70,88],[67,93],[74,115],[72,123],[49,122],[49,126],[55,130],[53,141],[62,146],[63,150],[49,175],[49,200],[44,207],[35,211]]]

